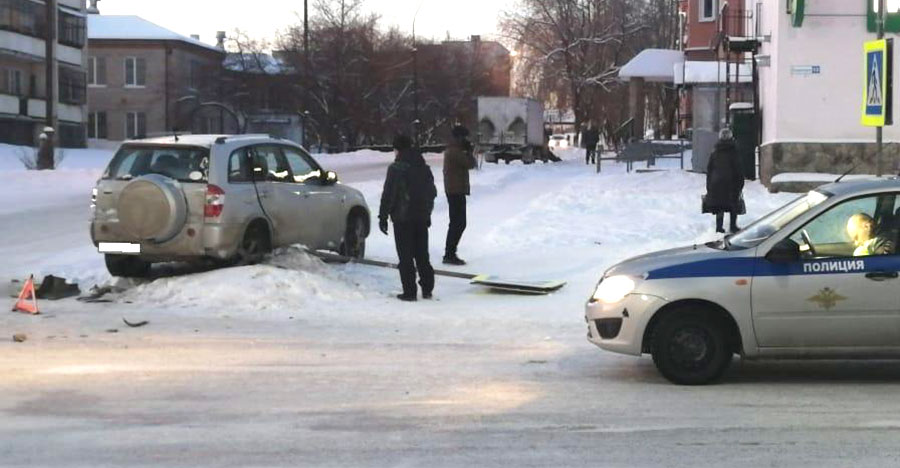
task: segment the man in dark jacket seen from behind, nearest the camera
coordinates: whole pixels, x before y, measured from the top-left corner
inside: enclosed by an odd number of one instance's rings
[[[388,167],[378,211],[378,228],[388,233],[388,218],[394,222],[394,244],[400,259],[401,301],[415,301],[416,270],[422,298],[431,299],[434,290],[434,268],[428,256],[428,228],[437,188],[425,158],[412,148],[406,135],[394,139],[396,160]]]

